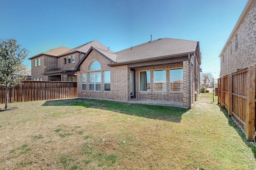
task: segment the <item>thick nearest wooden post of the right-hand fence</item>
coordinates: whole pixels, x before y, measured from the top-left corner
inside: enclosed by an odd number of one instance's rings
[[[256,66],[248,66],[247,74],[247,100],[246,100],[246,139],[254,139],[254,122],[255,122],[255,88],[256,88]]]

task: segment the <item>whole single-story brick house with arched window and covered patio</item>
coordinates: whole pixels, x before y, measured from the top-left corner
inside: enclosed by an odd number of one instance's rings
[[[116,53],[90,47],[73,70],[78,98],[157,100],[191,108],[199,92],[200,64],[198,41],[164,38]]]

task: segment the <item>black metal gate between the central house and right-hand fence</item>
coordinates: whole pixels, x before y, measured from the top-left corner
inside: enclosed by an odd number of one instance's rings
[[[206,82],[201,81],[199,90],[198,100],[218,102],[218,79],[212,78]]]

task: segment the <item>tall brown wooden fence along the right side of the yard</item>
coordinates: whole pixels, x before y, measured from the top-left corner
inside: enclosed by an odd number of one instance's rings
[[[256,136],[256,66],[251,65],[218,79],[218,102],[228,110],[246,133],[246,139]],[[255,138],[256,139],[256,138]]]

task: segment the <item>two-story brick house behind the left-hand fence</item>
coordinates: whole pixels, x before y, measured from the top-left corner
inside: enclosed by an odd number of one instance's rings
[[[74,68],[90,47],[95,46],[105,47],[94,40],[74,49],[59,47],[30,57],[31,80],[75,82],[76,70]]]

